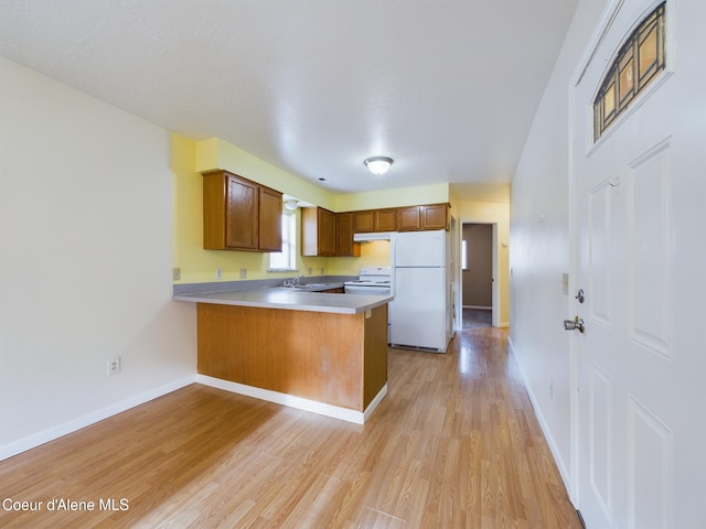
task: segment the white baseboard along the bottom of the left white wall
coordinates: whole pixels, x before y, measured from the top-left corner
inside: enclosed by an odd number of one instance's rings
[[[58,438],[63,438],[64,435],[81,430],[82,428],[89,427],[90,424],[95,424],[96,422],[100,422],[113,415],[122,413],[130,408],[135,408],[136,406],[143,404],[145,402],[149,402],[150,400],[163,397],[164,395],[176,391],[178,389],[189,386],[190,384],[194,384],[194,381],[195,380],[193,376],[175,380],[171,384],[167,384],[150,391],[146,391],[145,393],[140,393],[132,398],[116,402],[115,404],[107,406],[106,408],[101,408],[90,413],[86,413],[85,415],[77,417],[76,419],[64,422],[63,424],[58,424],[57,427],[49,428],[35,434],[23,438],[19,441],[14,441],[10,444],[6,444],[4,446],[0,446],[0,461],[21,454],[22,452],[26,452],[28,450],[36,449],[42,444],[49,443],[50,441],[54,441]]]

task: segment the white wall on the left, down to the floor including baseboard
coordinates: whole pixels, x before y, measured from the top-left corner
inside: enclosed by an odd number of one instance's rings
[[[0,79],[3,458],[193,380],[195,316],[169,133],[2,57]]]

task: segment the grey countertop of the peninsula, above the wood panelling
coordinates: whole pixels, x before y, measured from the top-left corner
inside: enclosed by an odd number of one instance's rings
[[[176,301],[290,311],[360,314],[393,301],[393,295],[332,294],[275,287],[225,292],[184,293]]]

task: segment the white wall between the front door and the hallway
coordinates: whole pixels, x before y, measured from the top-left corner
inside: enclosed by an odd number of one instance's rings
[[[570,485],[568,94],[605,0],[581,0],[512,181],[510,339],[557,465]],[[570,293],[574,295],[574,293]]]

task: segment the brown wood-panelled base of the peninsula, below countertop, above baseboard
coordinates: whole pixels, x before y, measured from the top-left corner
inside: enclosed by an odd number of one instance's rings
[[[387,305],[339,314],[199,303],[196,315],[201,375],[361,412],[387,384]]]

